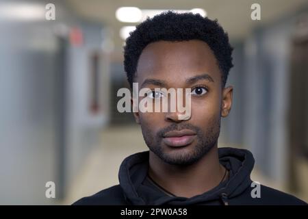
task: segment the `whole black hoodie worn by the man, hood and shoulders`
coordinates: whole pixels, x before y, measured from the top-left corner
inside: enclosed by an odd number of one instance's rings
[[[251,171],[255,159],[244,149],[220,148],[219,161],[229,170],[229,179],[192,198],[169,196],[146,183],[149,151],[125,158],[120,166],[120,185],[114,185],[81,198],[73,205],[307,205],[298,198],[260,185],[260,196],[253,198],[257,185],[252,184]],[[151,183],[150,183],[151,184]]]

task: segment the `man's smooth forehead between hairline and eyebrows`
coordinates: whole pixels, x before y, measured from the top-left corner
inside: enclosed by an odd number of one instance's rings
[[[142,51],[136,70],[136,81],[161,79],[167,83],[207,73],[220,81],[220,69],[214,53],[201,40],[158,41]]]

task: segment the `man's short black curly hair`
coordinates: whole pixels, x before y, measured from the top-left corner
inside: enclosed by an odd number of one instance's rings
[[[163,12],[136,26],[129,34],[124,47],[124,69],[132,88],[139,57],[146,45],[160,40],[184,41],[202,40],[214,52],[218,66],[222,72],[222,87],[227,82],[232,64],[233,48],[229,37],[218,24],[217,19],[211,21],[200,14]]]

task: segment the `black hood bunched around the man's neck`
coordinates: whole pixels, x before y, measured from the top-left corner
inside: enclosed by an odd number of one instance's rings
[[[166,196],[142,184],[149,168],[149,151],[136,153],[125,158],[118,174],[125,199],[132,205],[198,205],[228,201],[244,192],[251,185],[251,171],[255,159],[245,149],[219,148],[220,164],[229,170],[229,180],[203,194],[185,198]]]

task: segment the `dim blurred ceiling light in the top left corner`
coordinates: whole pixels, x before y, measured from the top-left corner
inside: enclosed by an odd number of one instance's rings
[[[34,3],[0,3],[0,18],[16,21],[36,21],[45,18],[44,5]]]

